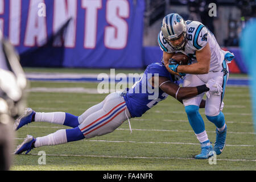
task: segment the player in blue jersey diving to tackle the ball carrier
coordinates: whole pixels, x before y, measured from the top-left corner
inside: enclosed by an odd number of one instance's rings
[[[158,91],[157,96],[153,98],[154,93],[150,91],[152,88]],[[142,91],[143,89],[145,92]],[[30,108],[26,109],[24,114],[16,119],[15,130],[31,122],[50,122],[73,129],[57,130],[55,133],[38,138],[27,135],[14,153],[21,154],[27,151],[27,154],[32,148],[40,146],[52,146],[108,134],[127,119],[129,121],[129,118],[141,117],[152,106],[166,99],[168,94],[182,102],[185,98],[204,92],[221,94],[222,88],[214,80],[209,80],[207,84],[200,86],[180,88],[174,83],[173,76],[163,64],[153,63],[148,65],[142,78],[127,92],[110,93],[104,101],[90,107],[79,117],[64,112],[39,113]],[[204,105],[203,101],[201,107]]]

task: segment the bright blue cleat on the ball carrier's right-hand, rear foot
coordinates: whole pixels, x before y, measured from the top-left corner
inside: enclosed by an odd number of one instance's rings
[[[216,129],[216,141],[214,143],[213,150],[216,152],[217,155],[220,155],[221,152],[224,150],[226,144],[226,127],[224,131],[220,132]]]

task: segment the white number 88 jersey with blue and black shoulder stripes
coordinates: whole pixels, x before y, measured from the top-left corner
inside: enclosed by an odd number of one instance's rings
[[[222,69],[222,62],[224,60],[224,53],[221,51],[212,32],[208,30],[202,23],[187,20],[185,21],[188,34],[188,42],[183,50],[175,51],[171,45],[163,38],[162,31],[158,34],[158,44],[162,51],[173,53],[182,52],[191,57],[192,64],[196,63],[196,51],[203,49],[207,43],[210,46],[210,72],[219,71]]]

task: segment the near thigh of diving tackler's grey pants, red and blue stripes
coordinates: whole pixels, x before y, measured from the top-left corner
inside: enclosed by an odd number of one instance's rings
[[[101,136],[112,133],[126,121],[127,117],[130,118],[130,113],[123,97],[113,93],[106,97],[102,109],[89,115],[79,128],[85,138]]]

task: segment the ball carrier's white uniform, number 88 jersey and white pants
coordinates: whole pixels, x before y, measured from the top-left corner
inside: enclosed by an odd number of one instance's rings
[[[167,53],[182,52],[191,57],[192,64],[196,63],[196,51],[203,49],[207,43],[210,47],[210,69],[209,73],[203,75],[187,74],[184,78],[183,86],[199,86],[206,84],[208,80],[214,78],[218,84],[222,85],[223,93],[220,96],[211,96],[207,98],[205,104],[205,114],[208,116],[218,115],[220,112],[221,102],[224,98],[226,82],[228,81],[229,69],[226,60],[224,59],[225,51],[222,51],[217,43],[212,32],[208,30],[202,23],[187,20],[185,22],[188,34],[188,42],[185,48],[180,51],[172,49],[170,44],[163,38],[162,31],[158,34],[158,43],[162,51]],[[204,96],[204,93],[198,96],[183,100],[184,106],[196,105],[199,106]]]

